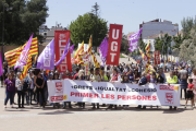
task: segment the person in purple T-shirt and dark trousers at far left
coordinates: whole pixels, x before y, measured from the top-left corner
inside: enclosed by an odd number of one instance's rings
[[[15,80],[13,79],[12,74],[9,73],[8,79],[4,81],[5,84],[5,99],[4,99],[4,108],[7,108],[7,103],[10,99],[10,106],[13,108],[13,97],[15,94]]]

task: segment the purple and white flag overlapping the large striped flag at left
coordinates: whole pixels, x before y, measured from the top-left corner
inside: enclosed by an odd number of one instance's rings
[[[14,70],[16,68],[21,68],[23,66],[26,66],[27,63],[27,60],[28,60],[28,55],[29,55],[29,49],[30,49],[30,45],[32,45],[32,38],[33,38],[33,35],[29,37],[28,39],[28,43],[26,44],[26,46],[24,47],[24,49],[22,50],[20,57],[17,58],[17,61],[14,66]]]

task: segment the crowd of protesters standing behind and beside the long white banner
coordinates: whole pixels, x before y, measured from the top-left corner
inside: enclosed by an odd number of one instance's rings
[[[7,62],[3,62],[3,75],[1,76],[1,86],[5,85],[5,99],[4,108],[7,108],[7,103],[10,99],[10,106],[17,104],[17,108],[25,108],[24,105],[37,104],[45,108],[46,105],[53,106],[53,108],[60,108],[61,104],[48,102],[48,86],[47,81],[50,80],[79,80],[79,81],[96,81],[96,82],[111,82],[111,83],[134,83],[145,85],[148,83],[155,84],[181,84],[182,92],[184,92],[184,98],[191,99],[192,108],[195,108],[196,103],[196,69],[191,66],[172,66],[166,69],[164,64],[154,66],[155,72],[146,73],[145,67],[142,63],[120,63],[119,66],[106,66],[100,68],[95,68],[89,63],[89,73],[85,74],[85,69],[82,66],[73,64],[73,72],[66,70],[60,73],[57,69],[46,71],[36,69],[36,66],[29,69],[28,74],[25,79],[20,80],[21,70],[13,70],[9,68]],[[169,76],[166,76],[166,71],[169,71]],[[181,98],[183,98],[181,92]],[[14,99],[17,95],[17,100]],[[24,103],[26,102],[26,103]],[[34,102],[34,103],[33,103]],[[62,108],[72,108],[72,102],[64,102]],[[85,108],[85,103],[76,103],[78,108]],[[93,109],[99,109],[100,104],[91,104]],[[118,105],[106,105],[102,104],[101,107],[108,106],[108,109],[118,108]],[[123,108],[128,108],[128,105],[123,105]],[[138,105],[137,108],[142,108]],[[146,109],[146,106],[143,106]],[[172,109],[172,107],[170,107]],[[177,109],[174,107],[174,109]]]

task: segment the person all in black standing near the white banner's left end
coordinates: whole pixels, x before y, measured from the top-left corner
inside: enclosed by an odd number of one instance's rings
[[[40,74],[39,69],[35,70],[34,84],[37,88],[37,104],[39,106],[40,105],[39,104],[39,94],[41,95],[41,98],[45,99],[45,95],[44,95],[45,80],[44,80],[44,76]],[[42,107],[45,108],[45,102],[42,103]]]

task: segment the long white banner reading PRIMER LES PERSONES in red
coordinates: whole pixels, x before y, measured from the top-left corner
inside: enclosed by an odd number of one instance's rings
[[[121,84],[72,80],[48,81],[49,102],[87,102],[118,105],[180,106],[180,85]]]

